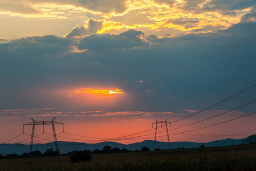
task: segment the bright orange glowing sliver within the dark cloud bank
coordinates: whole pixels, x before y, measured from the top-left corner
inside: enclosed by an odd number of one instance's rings
[[[122,90],[116,89],[92,89],[92,88],[81,88],[81,90],[76,90],[78,93],[90,93],[90,94],[103,94],[103,95],[112,95],[124,93]]]

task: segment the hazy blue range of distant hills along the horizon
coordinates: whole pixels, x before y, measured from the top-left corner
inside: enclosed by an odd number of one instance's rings
[[[256,141],[256,135],[252,135],[247,137],[246,139],[224,139],[212,141],[209,143],[194,143],[194,142],[173,142],[170,143],[171,149],[179,148],[198,148],[200,145],[204,144],[206,147],[210,146],[228,146],[228,145],[237,145],[237,144],[249,144],[250,142]],[[112,148],[120,148],[120,149],[128,149],[128,150],[136,150],[141,149],[142,146],[147,146],[151,150],[153,150],[153,140],[145,140],[140,143],[133,144],[121,144],[116,142],[103,142],[97,144],[86,144],[86,143],[76,143],[76,142],[66,142],[66,141],[58,141],[58,145],[60,148],[60,153],[68,153],[72,152],[72,150],[94,150],[100,149],[102,150],[105,145],[109,145]],[[32,150],[40,150],[40,152],[45,152],[46,149],[53,148],[55,149],[55,143],[47,143],[47,144],[35,144],[33,145]],[[168,149],[169,144],[165,142],[156,141],[155,148],[159,149]],[[25,144],[0,144],[0,154],[6,155],[10,153],[22,154],[25,152],[29,152],[29,145]]]

